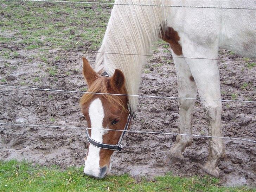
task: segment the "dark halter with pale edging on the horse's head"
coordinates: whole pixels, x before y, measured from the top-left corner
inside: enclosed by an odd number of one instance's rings
[[[106,72],[104,72],[103,74],[101,74],[102,76],[106,76],[106,77],[110,77],[109,75],[107,75]],[[125,124],[125,127],[123,129],[123,132],[122,132],[122,135],[120,136],[120,139],[118,141],[118,143],[116,145],[109,145],[109,144],[105,144],[105,143],[100,143],[100,142],[97,142],[93,139],[91,139],[89,133],[88,133],[88,128],[86,128],[86,137],[87,137],[87,140],[89,141],[89,143],[95,147],[98,147],[98,148],[101,148],[101,149],[111,149],[111,150],[117,150],[117,151],[121,151],[123,149],[123,146],[121,145],[121,142],[123,140],[123,136],[124,134],[126,133],[128,127],[129,127],[129,124],[130,124],[130,121],[131,119],[135,119],[136,118],[136,115],[134,113],[134,111],[132,111],[132,109],[130,108],[130,105],[129,103],[127,103],[128,105],[128,109],[129,109],[129,116],[128,116],[128,119],[127,119],[127,122]]]

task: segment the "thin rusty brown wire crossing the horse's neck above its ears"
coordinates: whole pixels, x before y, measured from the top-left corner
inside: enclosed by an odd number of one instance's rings
[[[104,53],[104,54],[114,54],[114,55],[136,55],[136,56],[149,56],[149,57],[167,57],[167,58],[183,58],[183,59],[207,59],[207,60],[225,60],[225,61],[234,61],[232,59],[216,59],[216,58],[198,58],[198,57],[177,57],[177,56],[166,56],[166,55],[142,55],[142,54],[133,54],[133,53],[109,53],[109,52],[98,52],[98,51],[78,51],[78,50],[59,50],[59,49],[45,49],[45,48],[30,48],[30,47],[13,47],[13,46],[2,46],[3,48],[12,48],[12,49],[30,49],[30,50],[48,50],[48,51],[63,51],[63,52],[81,52],[81,53]],[[235,60],[242,61],[245,60]]]

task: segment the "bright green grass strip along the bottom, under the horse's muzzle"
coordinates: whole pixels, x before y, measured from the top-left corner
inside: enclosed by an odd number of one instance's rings
[[[253,191],[245,186],[221,187],[219,179],[205,177],[178,177],[171,173],[135,180],[127,174],[94,179],[83,175],[83,167],[69,167],[64,171],[57,166],[50,168],[32,166],[25,161],[0,161],[1,191]]]

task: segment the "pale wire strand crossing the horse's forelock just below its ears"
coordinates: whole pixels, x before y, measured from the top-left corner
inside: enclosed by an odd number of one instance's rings
[[[186,98],[186,97],[165,97],[165,96],[151,96],[151,95],[112,94],[112,93],[97,93],[97,92],[68,91],[68,90],[58,90],[58,89],[42,89],[42,88],[32,88],[32,87],[19,87],[19,86],[11,86],[11,85],[0,85],[0,87],[11,87],[11,88],[22,88],[22,89],[34,89],[34,90],[43,90],[43,91],[75,92],[75,93],[98,94],[98,95],[120,95],[120,96],[153,97],[153,98],[168,98],[168,99],[188,99],[188,100],[210,100],[210,101],[232,101],[232,102],[256,103],[256,101],[218,100],[218,99],[201,99],[201,98]]]

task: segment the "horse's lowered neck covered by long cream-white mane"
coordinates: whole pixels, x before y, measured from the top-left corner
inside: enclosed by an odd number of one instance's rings
[[[125,3],[116,1],[116,3]],[[136,4],[145,1],[136,1]],[[166,4],[152,0],[148,4]],[[164,24],[163,7],[115,5],[112,9],[108,27],[99,52],[127,53],[138,55],[118,55],[98,53],[95,70],[106,71],[113,75],[120,69],[126,79],[129,95],[136,95],[139,90],[143,65],[151,52],[154,41],[160,37],[160,27]],[[137,97],[129,96],[129,103],[134,110]]]

